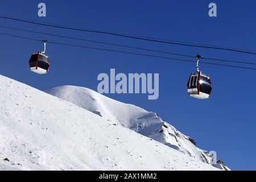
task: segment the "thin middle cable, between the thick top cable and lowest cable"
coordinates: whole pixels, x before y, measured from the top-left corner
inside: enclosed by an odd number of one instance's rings
[[[63,35],[57,35],[57,34],[49,34],[49,33],[46,33],[46,32],[38,32],[38,31],[32,31],[32,30],[25,30],[25,29],[22,29],[22,28],[14,28],[14,27],[6,27],[6,26],[0,26],[0,27],[1,28],[8,28],[8,29],[11,29],[11,30],[31,32],[31,33],[35,33],[35,34],[50,35],[50,36],[56,36],[56,37],[60,37],[60,38],[67,38],[67,39],[73,39],[73,40],[81,40],[81,41],[85,41],[85,42],[106,44],[106,45],[110,45],[110,46],[118,46],[118,47],[139,49],[139,50],[143,50],[143,51],[166,53],[166,54],[176,55],[176,56],[195,57],[195,56],[192,56],[192,55],[184,55],[184,54],[181,54],[181,53],[174,53],[174,52],[167,52],[167,51],[158,51],[158,50],[154,50],[154,49],[147,49],[147,48],[134,47],[134,46],[125,46],[125,45],[121,45],[121,44],[114,44],[114,43],[108,43],[108,42],[100,42],[100,41],[96,41],[96,40],[74,38],[74,37],[71,37],[71,36],[63,36]],[[233,60],[225,60],[225,59],[214,59],[214,58],[211,58],[211,57],[202,57],[202,59],[216,60],[216,61],[223,61],[223,62],[230,62],[230,63],[241,63],[241,64],[256,65],[256,63],[251,63],[249,61],[233,61]]]

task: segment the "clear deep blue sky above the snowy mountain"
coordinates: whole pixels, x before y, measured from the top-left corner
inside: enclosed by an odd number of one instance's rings
[[[47,5],[46,18],[38,17],[39,2],[41,1],[1,1],[0,14],[76,27],[256,51],[255,1],[44,0],[42,2]],[[217,18],[208,16],[210,2],[217,4]],[[255,55],[150,43],[3,19],[0,19],[0,25],[189,55],[200,53],[203,56],[220,59],[256,62]],[[0,32],[83,46],[134,51],[3,28],[0,28]],[[212,78],[213,92],[209,100],[196,100],[188,96],[186,89],[188,77],[195,71],[195,65],[191,63],[48,44],[47,53],[51,56],[51,69],[47,75],[40,76],[28,71],[28,59],[33,51],[42,49],[40,43],[0,37],[0,74],[41,90],[60,85],[79,85],[96,90],[97,75],[109,73],[110,68],[127,74],[159,73],[158,100],[147,100],[146,94],[106,94],[106,96],[158,113],[165,121],[194,138],[200,148],[217,151],[218,158],[224,160],[231,169],[256,169],[255,71],[201,64],[203,73],[209,74]]]

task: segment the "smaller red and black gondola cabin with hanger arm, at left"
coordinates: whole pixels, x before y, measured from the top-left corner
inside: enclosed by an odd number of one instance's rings
[[[49,56],[46,55],[46,43],[47,40],[42,41],[44,44],[44,50],[32,53],[29,65],[30,71],[38,73],[38,74],[45,74],[49,71]]]

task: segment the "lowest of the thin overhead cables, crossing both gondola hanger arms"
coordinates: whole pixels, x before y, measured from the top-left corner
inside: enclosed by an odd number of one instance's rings
[[[27,37],[24,37],[24,36],[17,36],[17,35],[12,35],[12,34],[5,34],[5,33],[1,33],[1,32],[0,32],[0,35],[12,36],[12,37],[15,37],[15,38],[33,40],[33,41],[36,41],[36,42],[42,42],[42,40],[39,40],[39,39],[27,38]],[[139,56],[147,56],[147,57],[156,57],[156,58],[162,58],[162,59],[170,59],[170,60],[174,60],[174,61],[185,61],[185,62],[191,62],[191,63],[195,63],[195,62],[196,62],[196,61],[193,61],[193,60],[176,59],[176,58],[173,58],[173,57],[164,57],[164,56],[156,56],[156,55],[147,55],[147,54],[143,54],[143,53],[134,53],[134,52],[126,52],[126,51],[117,51],[117,50],[113,50],[113,49],[105,49],[105,48],[97,48],[97,47],[79,46],[79,45],[75,45],[75,44],[67,44],[67,43],[59,43],[59,42],[50,42],[50,41],[48,41],[47,43],[52,43],[52,44],[57,44],[57,45],[62,45],[62,46],[80,47],[80,48],[86,48],[86,49],[96,49],[96,50],[101,50],[101,51],[126,53],[126,54],[130,54],[130,55],[139,55]],[[232,67],[232,68],[241,68],[241,69],[251,69],[251,70],[256,71],[256,68],[240,67],[240,66],[236,66],[236,65],[217,64],[217,63],[207,63],[207,62],[202,62],[202,61],[201,61],[200,63],[201,63],[201,64],[218,65],[218,66],[223,66],[223,67]]]

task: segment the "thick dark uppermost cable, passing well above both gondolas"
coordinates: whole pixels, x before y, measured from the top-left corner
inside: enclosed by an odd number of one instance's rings
[[[203,46],[203,45],[199,45],[199,44],[171,42],[171,41],[159,40],[159,39],[154,39],[154,38],[153,39],[151,39],[151,38],[143,38],[143,37],[140,37],[140,36],[132,36],[132,35],[127,35],[127,34],[120,34],[120,33],[115,33],[115,32],[101,31],[101,30],[90,30],[90,29],[85,29],[85,28],[72,28],[72,27],[67,27],[67,26],[58,26],[58,25],[54,25],[54,24],[38,23],[38,22],[31,21],[31,20],[11,18],[11,17],[8,17],[8,16],[0,16],[0,18],[2,18],[2,19],[9,19],[9,20],[15,20],[15,21],[18,21],[18,22],[25,22],[25,23],[30,23],[30,24],[37,24],[37,25],[47,26],[47,27],[62,28],[62,29],[66,29],[66,30],[93,32],[93,33],[98,33],[98,34],[107,34],[107,35],[121,36],[121,37],[124,37],[124,38],[131,38],[131,39],[137,39],[137,40],[147,40],[147,41],[150,41],[150,42],[175,44],[175,45],[179,45],[179,46],[199,47],[199,48],[208,48],[208,49],[219,49],[219,50],[225,50],[225,51],[233,51],[233,52],[248,53],[248,54],[256,55],[256,52],[247,51],[247,50],[241,50],[241,49],[226,48],[226,47],[214,47],[214,46]]]

